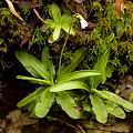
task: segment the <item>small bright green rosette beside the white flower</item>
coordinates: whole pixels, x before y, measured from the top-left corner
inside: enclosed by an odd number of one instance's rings
[[[59,9],[59,6],[53,3],[49,7],[49,14],[52,19],[47,19],[45,21],[48,24],[50,24],[50,28],[53,31],[48,40],[49,43],[53,43],[59,39],[61,29],[63,29],[69,34],[75,34],[75,31],[72,28],[72,16],[69,10],[64,11],[61,16],[61,10]]]

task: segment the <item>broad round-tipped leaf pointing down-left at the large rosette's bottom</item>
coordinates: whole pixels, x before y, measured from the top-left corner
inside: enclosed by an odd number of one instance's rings
[[[43,117],[50,111],[52,103],[54,101],[54,95],[49,91],[49,88],[42,92],[40,102],[35,105],[35,115]]]

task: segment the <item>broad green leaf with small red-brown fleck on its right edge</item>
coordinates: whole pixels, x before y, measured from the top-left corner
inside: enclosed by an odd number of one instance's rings
[[[72,119],[80,119],[81,113],[76,109],[78,105],[69,92],[58,92],[55,99],[58,104],[61,105],[62,110],[65,111],[69,116]]]

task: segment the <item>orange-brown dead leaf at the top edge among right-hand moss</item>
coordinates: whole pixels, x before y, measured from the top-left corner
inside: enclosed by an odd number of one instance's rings
[[[117,16],[122,16],[125,13],[124,8],[125,8],[125,3],[123,0],[115,0],[114,11]]]

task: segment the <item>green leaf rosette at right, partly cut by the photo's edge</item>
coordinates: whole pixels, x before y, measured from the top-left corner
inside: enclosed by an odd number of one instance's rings
[[[100,123],[106,123],[108,115],[112,114],[119,119],[125,119],[125,111],[133,111],[133,104],[119,95],[96,88],[100,83],[104,83],[106,78],[111,76],[111,70],[106,66],[110,51],[106,50],[100,60],[95,63],[93,70],[101,72],[101,75],[90,78],[90,101],[92,109],[90,110],[90,102],[83,105],[83,109],[95,114]],[[89,109],[89,110],[86,110]]]

